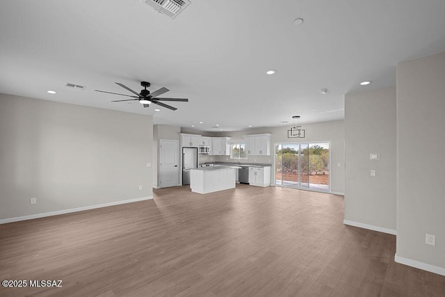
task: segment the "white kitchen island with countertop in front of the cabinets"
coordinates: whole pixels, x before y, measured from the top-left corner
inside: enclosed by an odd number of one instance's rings
[[[192,192],[207,194],[235,187],[238,166],[200,167],[190,170]]]

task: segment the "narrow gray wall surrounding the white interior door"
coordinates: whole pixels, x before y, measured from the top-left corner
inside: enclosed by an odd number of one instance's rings
[[[153,186],[159,188],[159,141],[166,139],[170,141],[178,141],[179,145],[179,133],[180,127],[168,126],[168,125],[153,125]],[[179,151],[178,151],[179,154]]]

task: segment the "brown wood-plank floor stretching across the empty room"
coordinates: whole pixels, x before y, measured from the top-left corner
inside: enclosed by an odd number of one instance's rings
[[[445,296],[396,237],[343,225],[343,197],[237,185],[0,225],[0,296]]]

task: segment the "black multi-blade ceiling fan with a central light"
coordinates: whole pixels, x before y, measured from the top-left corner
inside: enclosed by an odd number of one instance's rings
[[[159,95],[162,95],[163,93],[167,93],[169,91],[168,88],[160,88],[159,90],[155,90],[153,93],[150,93],[150,91],[147,90],[147,88],[150,86],[150,83],[147,81],[140,82],[140,86],[144,87],[143,90],[140,90],[140,93],[137,93],[136,91],[131,90],[131,88],[124,86],[122,83],[116,83],[116,84],[126,90],[129,90],[131,93],[133,93],[134,95],[137,95],[137,96],[131,96],[131,95],[125,95],[125,94],[119,94],[119,93],[111,93],[111,92],[106,92],[104,90],[95,90],[95,91],[135,98],[135,99],[126,99],[126,100],[114,100],[112,102],[138,100],[139,103],[144,105],[144,107],[149,107],[150,106],[149,104],[153,103],[153,104],[157,104],[159,106],[163,106],[166,109],[171,109],[172,111],[176,111],[177,108],[167,105],[167,104],[163,104],[160,101],[188,102],[188,99],[185,99],[185,98],[158,98]]]

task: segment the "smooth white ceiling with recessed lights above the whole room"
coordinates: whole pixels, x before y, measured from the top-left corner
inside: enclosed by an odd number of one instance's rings
[[[344,94],[394,86],[398,62],[445,51],[444,0],[191,2],[170,19],[139,0],[1,1],[0,93],[234,131],[342,119]],[[140,81],[189,102],[155,112],[95,92]]]

